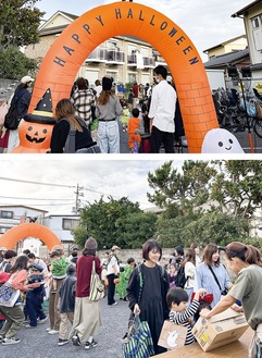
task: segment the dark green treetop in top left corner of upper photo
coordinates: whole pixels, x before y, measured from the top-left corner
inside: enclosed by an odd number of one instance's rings
[[[4,0],[0,2],[0,44],[8,49],[36,44],[38,26],[45,12],[35,4],[39,0]]]

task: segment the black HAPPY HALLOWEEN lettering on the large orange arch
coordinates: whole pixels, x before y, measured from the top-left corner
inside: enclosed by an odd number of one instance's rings
[[[133,9],[129,9],[126,15],[123,15],[121,9],[115,9],[115,20],[116,20],[116,21],[117,21],[117,20],[122,20],[122,18],[124,18],[124,16],[125,16],[126,18],[135,18],[135,17],[136,17],[136,14],[133,13]],[[100,24],[102,27],[104,27],[104,23],[103,23],[103,21],[102,21],[102,16],[101,16],[101,15],[99,15],[99,16],[97,16],[97,17],[95,17],[95,18],[99,22],[99,24]],[[139,21],[145,21],[145,17],[144,17],[144,11],[142,11],[142,10],[139,11],[138,20],[139,20]],[[152,17],[151,17],[150,21],[149,21],[149,24],[150,24],[151,26],[155,26],[155,15],[152,15]],[[91,35],[91,29],[90,29],[90,26],[89,26],[88,24],[84,24],[82,27],[85,29],[85,32],[86,32],[88,35]],[[172,27],[171,29],[167,29],[167,27],[169,27],[169,23],[167,23],[166,21],[163,21],[163,22],[159,25],[159,29],[160,29],[161,32],[163,32],[163,30],[167,30],[167,32],[169,32],[169,36],[173,38],[173,37],[177,34],[177,29],[176,29],[175,27]],[[73,34],[73,35],[71,36],[71,38],[72,38],[74,41],[76,41],[78,45],[82,44],[80,36],[79,36],[78,34]],[[185,38],[184,36],[180,36],[179,38],[175,39],[175,44],[176,44],[177,46],[183,46],[183,45],[184,45],[183,42],[184,42],[185,40],[186,40],[186,38]],[[75,49],[73,49],[72,47],[68,47],[68,46],[65,46],[65,45],[64,45],[64,46],[63,46],[63,51],[65,51],[65,55],[67,54],[67,55],[71,57],[71,55],[75,52]],[[191,47],[191,46],[187,46],[186,48],[183,48],[182,51],[183,51],[183,53],[184,53],[185,55],[188,55],[188,54],[190,55],[190,52],[192,51],[192,47]],[[198,59],[198,57],[194,57],[194,58],[190,58],[188,61],[189,61],[189,63],[192,65],[192,64],[198,63],[198,62],[199,62],[199,59]],[[60,58],[60,57],[54,57],[53,62],[54,62],[55,64],[62,66],[62,67],[66,64],[66,60],[65,60],[65,58]]]

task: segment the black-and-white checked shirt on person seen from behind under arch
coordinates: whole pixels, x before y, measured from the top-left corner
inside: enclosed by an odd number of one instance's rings
[[[95,96],[90,89],[76,90],[72,96],[72,102],[75,109],[75,114],[91,123],[91,107],[95,106]]]

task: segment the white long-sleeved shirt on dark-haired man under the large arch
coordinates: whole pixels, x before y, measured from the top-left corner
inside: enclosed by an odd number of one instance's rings
[[[175,132],[176,91],[162,79],[152,90],[148,116],[153,119],[152,125],[162,132]]]

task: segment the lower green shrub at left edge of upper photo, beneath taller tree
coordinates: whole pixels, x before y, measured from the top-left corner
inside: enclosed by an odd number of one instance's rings
[[[17,48],[0,48],[0,78],[17,79],[37,69],[35,60],[27,59]]]

